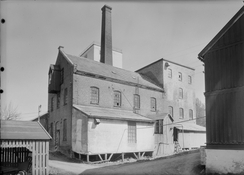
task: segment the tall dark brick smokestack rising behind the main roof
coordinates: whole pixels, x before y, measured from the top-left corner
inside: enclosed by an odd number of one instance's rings
[[[102,8],[102,35],[101,35],[101,57],[100,62],[113,65],[112,55],[112,8],[104,5]]]

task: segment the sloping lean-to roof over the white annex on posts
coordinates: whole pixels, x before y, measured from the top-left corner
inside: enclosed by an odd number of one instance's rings
[[[104,118],[113,120],[127,120],[127,121],[142,121],[153,123],[151,119],[134,113],[133,111],[121,110],[121,109],[111,109],[102,108],[94,106],[83,106],[83,105],[73,105],[73,107],[82,113],[86,114],[88,117],[92,118]]]

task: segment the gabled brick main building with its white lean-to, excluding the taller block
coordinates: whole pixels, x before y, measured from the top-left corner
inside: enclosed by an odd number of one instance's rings
[[[51,146],[82,156],[154,151],[154,121],[146,116],[163,112],[162,88],[61,47],[49,76]]]

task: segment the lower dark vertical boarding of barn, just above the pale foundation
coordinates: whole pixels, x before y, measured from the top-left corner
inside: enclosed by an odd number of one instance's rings
[[[244,145],[244,87],[205,95],[208,145]]]

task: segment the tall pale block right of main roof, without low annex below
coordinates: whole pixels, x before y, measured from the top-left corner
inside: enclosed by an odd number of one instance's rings
[[[160,59],[136,72],[150,78],[164,90],[168,112],[176,121],[192,120],[196,123],[196,105],[193,68]]]

